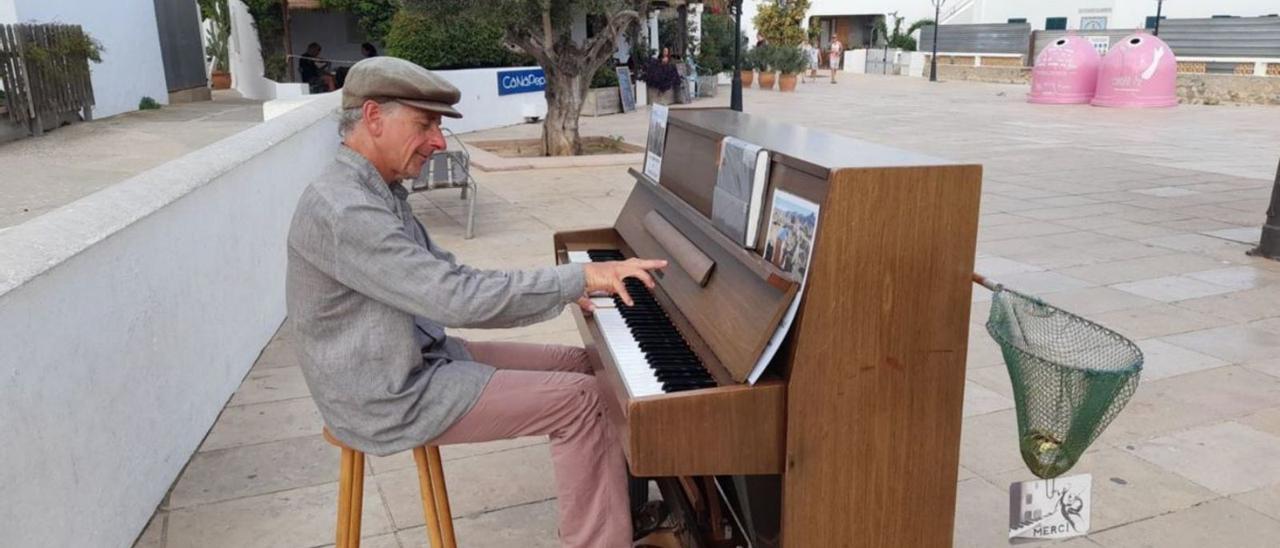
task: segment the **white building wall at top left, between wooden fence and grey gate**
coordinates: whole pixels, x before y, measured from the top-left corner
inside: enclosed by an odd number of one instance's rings
[[[155,0],[14,0],[18,22],[79,24],[102,42],[102,63],[90,63],[93,117],[138,109],[143,96],[169,102],[160,58]]]

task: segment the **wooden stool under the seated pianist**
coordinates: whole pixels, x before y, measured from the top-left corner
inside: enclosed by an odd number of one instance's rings
[[[342,449],[338,471],[338,547],[360,548],[360,515],[365,501],[365,453],[347,447],[324,429],[324,439]],[[444,467],[440,448],[424,446],[413,448],[417,461],[417,484],[422,490],[422,515],[426,517],[426,535],[433,548],[457,548],[453,539],[453,513],[449,511],[449,492],[444,487]]]

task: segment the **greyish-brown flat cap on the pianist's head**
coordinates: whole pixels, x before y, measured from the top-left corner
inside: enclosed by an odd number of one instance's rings
[[[351,67],[342,87],[342,108],[356,109],[367,100],[396,100],[416,109],[462,118],[453,105],[462,92],[439,74],[404,59],[369,58]]]

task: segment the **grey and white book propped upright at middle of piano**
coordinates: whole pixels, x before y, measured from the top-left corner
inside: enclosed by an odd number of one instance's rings
[[[712,224],[742,247],[754,248],[768,183],[769,151],[724,137],[712,195]]]

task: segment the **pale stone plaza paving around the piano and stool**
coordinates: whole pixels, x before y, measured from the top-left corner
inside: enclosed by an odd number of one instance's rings
[[[1276,545],[1280,262],[1244,251],[1280,159],[1280,109],[1036,106],[1024,90],[845,76],[796,93],[748,91],[746,105],[983,164],[978,269],[1138,341],[1147,370],[1137,396],[1073,470],[1093,474],[1093,533],[1065,544]],[[645,115],[584,118],[584,127],[641,143]],[[631,187],[617,166],[479,179],[471,241],[453,191],[411,201],[438,239],[488,268],[549,264],[553,232],[612,224]],[[982,328],[988,293],[975,289],[974,300],[955,544],[1000,547],[1007,487],[1032,475],[1015,443],[1007,374]],[[579,342],[567,315],[458,334]],[[138,547],[332,543],[338,452],[320,437],[292,344],[282,332],[264,350]],[[447,447],[444,456],[462,545],[557,545],[545,439]],[[412,458],[370,458],[367,475],[365,545],[426,545]]]

